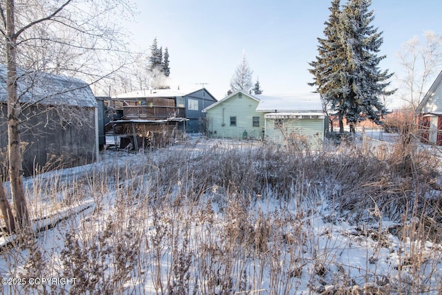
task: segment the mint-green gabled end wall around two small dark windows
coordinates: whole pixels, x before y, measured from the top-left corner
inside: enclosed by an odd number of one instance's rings
[[[241,94],[242,98],[238,95]],[[264,130],[264,114],[256,112],[258,99],[253,99],[244,93],[236,93],[232,97],[209,108],[208,131],[211,137],[227,137],[240,139],[247,132],[248,137],[262,138]],[[231,126],[230,118],[236,117],[236,126]],[[259,117],[259,125],[253,126],[253,117]]]

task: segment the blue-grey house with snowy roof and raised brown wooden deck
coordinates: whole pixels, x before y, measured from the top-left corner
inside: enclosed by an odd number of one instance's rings
[[[201,88],[197,91],[172,89],[133,91],[112,97],[112,102],[116,109],[124,112],[125,118],[128,118],[132,112],[131,119],[146,119],[145,115],[149,110],[155,111],[149,115],[149,119],[153,120],[165,120],[174,116],[186,118],[185,124],[180,125],[180,129],[186,133],[195,133],[202,129],[200,127],[202,110],[217,100],[206,88]],[[137,113],[139,111],[145,113]]]

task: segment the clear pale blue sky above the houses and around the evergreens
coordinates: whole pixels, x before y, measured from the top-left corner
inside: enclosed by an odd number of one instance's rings
[[[148,52],[156,37],[158,46],[168,48],[172,88],[204,86],[222,99],[244,53],[253,83],[259,79],[263,94],[315,90],[307,84],[313,81],[308,63],[317,55],[317,38],[323,37],[331,0],[135,3],[137,15],[127,24],[133,42]],[[378,55],[386,58],[381,70],[399,75],[403,69],[397,54],[402,44],[414,36],[423,41],[427,30],[442,34],[440,0],[372,0],[370,8],[375,15],[372,25],[383,32]]]

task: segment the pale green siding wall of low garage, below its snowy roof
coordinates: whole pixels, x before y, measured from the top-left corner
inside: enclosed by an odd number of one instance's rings
[[[282,119],[282,126],[275,127],[275,119],[265,121],[265,137],[276,144],[285,144],[287,137],[298,135],[305,137],[314,149],[322,146],[324,140],[325,119]]]

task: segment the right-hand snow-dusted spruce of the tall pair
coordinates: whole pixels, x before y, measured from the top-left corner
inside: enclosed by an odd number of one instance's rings
[[[385,115],[381,95],[391,95],[385,88],[392,77],[387,70],[379,69],[379,62],[385,55],[378,56],[383,38],[370,23],[374,12],[369,11],[371,0],[350,0],[340,15],[340,36],[345,40],[346,62],[341,73],[346,87],[343,88],[345,117],[354,132],[354,125],[369,119],[380,124]]]

